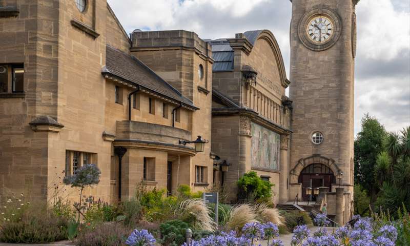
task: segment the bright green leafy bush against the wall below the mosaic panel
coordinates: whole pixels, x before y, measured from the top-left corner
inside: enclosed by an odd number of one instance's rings
[[[269,201],[273,183],[262,180],[254,171],[243,174],[238,180],[238,198],[248,201]]]

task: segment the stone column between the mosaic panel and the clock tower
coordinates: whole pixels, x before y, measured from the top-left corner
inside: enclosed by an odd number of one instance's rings
[[[280,176],[279,176],[279,203],[289,200],[288,197],[288,173],[289,173],[289,135],[280,136]]]

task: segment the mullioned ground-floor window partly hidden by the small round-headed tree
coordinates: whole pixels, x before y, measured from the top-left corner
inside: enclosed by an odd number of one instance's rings
[[[66,150],[66,176],[74,175],[81,166],[87,164],[97,164],[97,154]]]

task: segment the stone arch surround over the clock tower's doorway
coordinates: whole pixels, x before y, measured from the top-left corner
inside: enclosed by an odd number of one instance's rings
[[[329,167],[335,176],[342,174],[341,169],[337,166],[334,159],[321,155],[312,155],[298,160],[296,166],[290,171],[290,183],[298,183],[300,172],[311,164],[323,164]]]

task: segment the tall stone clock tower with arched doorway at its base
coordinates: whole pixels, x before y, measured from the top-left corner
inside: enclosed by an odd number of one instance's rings
[[[328,187],[327,211],[344,223],[353,211],[357,1],[291,2],[289,197]]]

